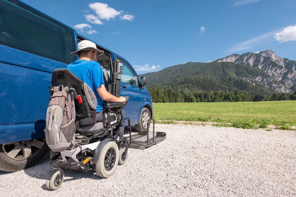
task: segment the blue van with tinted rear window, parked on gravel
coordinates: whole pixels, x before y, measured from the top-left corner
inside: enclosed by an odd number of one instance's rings
[[[84,39],[21,1],[0,0],[0,170],[22,170],[47,153],[43,129],[51,75],[77,59],[71,52]],[[104,74],[112,62],[123,64],[120,95],[130,96],[125,117],[137,131],[147,131],[153,107],[145,80],[124,58],[97,48],[105,52],[98,57]]]

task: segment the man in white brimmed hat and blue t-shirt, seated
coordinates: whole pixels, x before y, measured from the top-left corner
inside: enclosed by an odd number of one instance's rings
[[[97,122],[103,121],[103,107],[104,100],[109,102],[122,102],[125,103],[124,97],[115,97],[110,94],[104,84],[103,71],[100,64],[97,61],[97,56],[100,56],[104,51],[97,49],[95,43],[89,40],[83,40],[78,43],[77,51],[71,53],[72,55],[78,55],[78,60],[67,66],[71,72],[73,72],[79,79],[86,83],[95,93],[97,98]],[[98,55],[99,53],[99,55]],[[122,112],[124,116],[124,110]],[[123,136],[124,126],[120,126],[117,131],[114,131],[114,135],[120,137]]]

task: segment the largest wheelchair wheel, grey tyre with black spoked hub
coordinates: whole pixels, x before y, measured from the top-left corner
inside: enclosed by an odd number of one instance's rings
[[[104,146],[99,162],[96,164],[96,171],[99,176],[103,178],[110,177],[114,172],[118,164],[119,150],[114,141],[109,141]]]

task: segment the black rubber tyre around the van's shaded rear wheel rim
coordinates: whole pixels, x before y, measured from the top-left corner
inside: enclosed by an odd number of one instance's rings
[[[40,160],[43,159],[44,156],[48,153],[49,148],[45,142],[45,139],[38,140],[43,141],[42,147],[39,150],[37,150],[35,154],[23,160],[15,160],[8,157],[3,149],[3,144],[0,144],[0,171],[15,172],[32,167],[36,165],[38,162],[40,162]]]

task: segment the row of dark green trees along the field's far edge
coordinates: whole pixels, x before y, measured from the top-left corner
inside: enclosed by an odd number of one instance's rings
[[[284,93],[247,93],[243,91],[200,91],[177,90],[172,88],[148,87],[153,102],[240,102],[296,100],[296,92]]]

